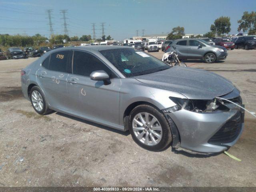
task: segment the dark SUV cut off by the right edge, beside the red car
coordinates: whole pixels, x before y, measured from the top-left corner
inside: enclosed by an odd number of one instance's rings
[[[235,42],[235,48],[244,48],[246,50],[256,48],[256,36],[238,37]]]

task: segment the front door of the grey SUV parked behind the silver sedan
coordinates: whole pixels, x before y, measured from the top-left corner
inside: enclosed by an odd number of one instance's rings
[[[201,59],[204,55],[204,44],[198,40],[188,41],[188,57],[192,59]]]

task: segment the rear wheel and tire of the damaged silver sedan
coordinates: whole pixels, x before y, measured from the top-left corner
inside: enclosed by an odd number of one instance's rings
[[[32,87],[29,96],[32,107],[38,114],[45,115],[52,111],[48,108],[48,105],[46,104],[44,98],[44,94],[38,86]]]

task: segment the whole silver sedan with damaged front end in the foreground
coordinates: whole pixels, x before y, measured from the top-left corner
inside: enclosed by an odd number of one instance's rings
[[[24,97],[50,111],[122,131],[148,150],[172,147],[214,153],[233,146],[244,111],[232,82],[174,66],[126,46],[81,46],[47,52],[21,71]]]

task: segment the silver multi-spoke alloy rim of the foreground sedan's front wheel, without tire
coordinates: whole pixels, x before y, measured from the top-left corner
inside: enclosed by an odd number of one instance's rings
[[[136,114],[132,120],[136,138],[145,145],[154,146],[162,139],[162,127],[156,117],[147,112]]]

